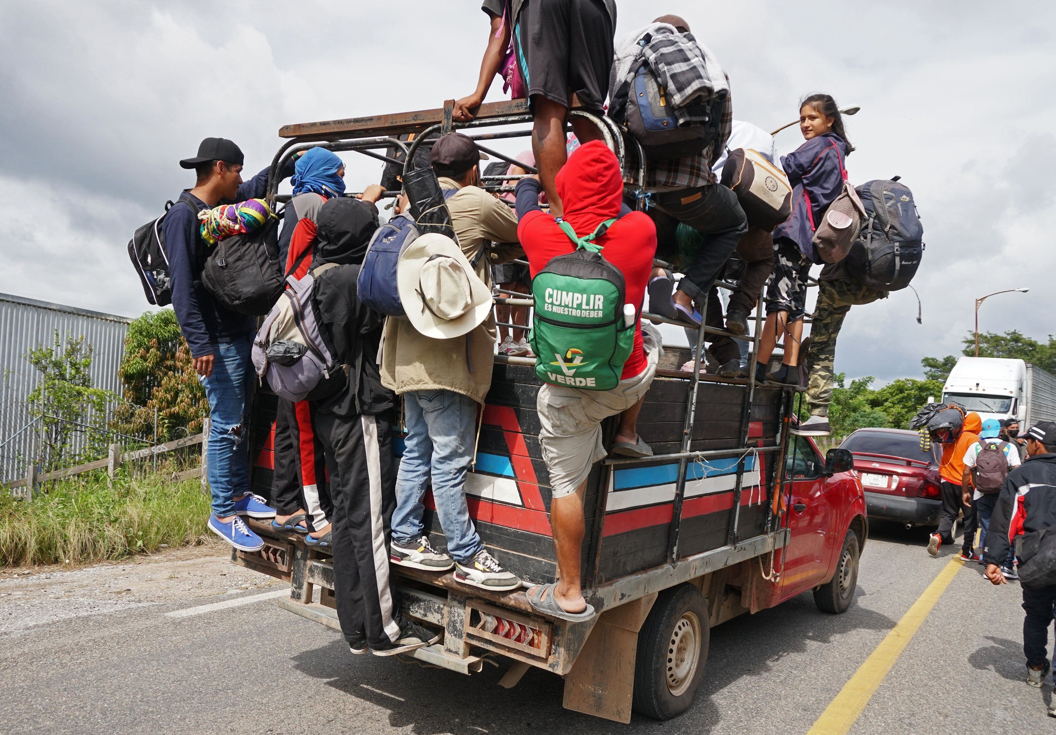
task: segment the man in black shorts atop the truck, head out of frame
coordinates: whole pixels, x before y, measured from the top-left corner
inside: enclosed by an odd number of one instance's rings
[[[568,112],[605,114],[616,0],[484,0],[480,10],[491,18],[488,48],[476,90],[455,101],[454,119],[473,119],[496,74],[512,77],[511,94],[528,97],[532,152],[550,213],[561,216],[554,176],[568,158],[565,124],[581,143],[602,139],[593,124]]]

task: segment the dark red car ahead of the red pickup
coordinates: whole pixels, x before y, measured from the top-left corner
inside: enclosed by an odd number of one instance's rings
[[[840,445],[854,455],[869,519],[938,526],[942,513],[938,449],[924,452],[905,429],[859,429]]]

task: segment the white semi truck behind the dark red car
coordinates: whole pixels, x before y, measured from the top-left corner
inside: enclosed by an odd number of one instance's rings
[[[962,357],[942,388],[942,402],[987,418],[1015,417],[1021,430],[1056,421],[1056,377],[1023,360]]]

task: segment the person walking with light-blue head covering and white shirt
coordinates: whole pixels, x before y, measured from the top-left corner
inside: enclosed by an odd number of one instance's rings
[[[989,529],[998,493],[1001,492],[1008,472],[1021,464],[1017,445],[998,438],[1000,432],[1001,423],[996,418],[987,418],[979,432],[979,441],[968,447],[968,451],[964,453],[961,488],[964,493],[964,504],[972,502],[976,505],[979,527],[982,529],[982,534],[979,536],[980,549],[986,548],[986,532]],[[965,557],[962,552],[961,558],[966,562],[981,561],[978,554]],[[1001,565],[1001,573],[1011,580],[1018,579],[1012,549],[1008,550],[1007,560]]]

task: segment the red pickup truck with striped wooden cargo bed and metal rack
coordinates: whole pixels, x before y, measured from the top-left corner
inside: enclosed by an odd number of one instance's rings
[[[269,197],[284,199],[276,193],[276,172],[296,151],[312,146],[413,167],[422,139],[459,130],[489,155],[523,166],[487,142],[530,135],[524,100],[483,105],[469,123],[453,121],[452,109],[449,100],[436,110],[285,126],[280,136],[288,140],[271,164]],[[572,114],[599,127],[621,164],[628,155],[637,162],[637,175],[626,187],[640,191],[645,163],[634,138],[607,118]],[[488,130],[495,127],[505,130]],[[504,182],[509,178],[489,177],[482,185],[508,190]],[[530,304],[530,299],[496,301]],[[667,321],[650,314],[643,318]],[[760,323],[761,304],[751,338],[756,350]],[[413,658],[470,674],[480,671],[485,658],[504,657],[512,665],[503,685],[514,685],[536,666],[564,677],[568,709],[623,722],[633,709],[664,719],[692,702],[712,626],[810,589],[822,609],[847,608],[867,535],[849,453],[830,450],[823,459],[812,440],[790,435],[794,388],[756,383],[754,371],[746,379],[701,375],[705,334],[735,337],[701,325],[691,373],[678,370],[689,351],[665,347],[667,356],[638,419],[638,431],[655,455],[609,458],[589,475],[583,586],[598,611],[593,620],[548,619],[532,609],[523,590],[488,592],[457,583],[450,572],[394,566],[403,612],[445,633],[440,643],[415,651]],[[470,514],[504,566],[527,584],[552,582],[557,561],[548,473],[538,438],[541,383],[534,358],[495,356],[495,363],[466,483]],[[258,389],[250,431],[252,486],[266,497],[271,494],[275,413],[275,396],[266,385]],[[615,419],[603,428],[611,441]],[[430,540],[446,548],[431,502],[427,494]],[[289,599],[280,599],[280,605],[339,629],[329,555],[305,546],[296,533],[250,525],[266,545],[259,552],[234,551],[232,562],[289,581]]]

